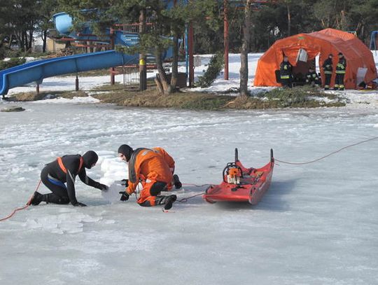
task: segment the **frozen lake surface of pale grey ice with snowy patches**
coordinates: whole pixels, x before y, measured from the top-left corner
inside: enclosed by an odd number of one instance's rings
[[[89,176],[125,178],[120,144],[162,146],[183,183],[302,162],[378,136],[375,109],[176,111],[22,104],[0,112],[0,218],[25,204],[43,165],[99,153]],[[0,223],[0,284],[378,284],[378,140],[310,165],[276,165],[260,204],[111,204],[77,180],[76,208],[41,203]],[[203,192],[186,186],[179,198]]]

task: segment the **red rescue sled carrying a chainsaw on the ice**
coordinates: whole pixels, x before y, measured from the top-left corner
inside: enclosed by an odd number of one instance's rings
[[[218,201],[260,202],[272,181],[274,167],[273,150],[270,150],[270,162],[261,168],[246,168],[239,161],[235,148],[235,162],[229,162],[223,169],[223,181],[218,185],[211,185],[203,195],[209,203]]]

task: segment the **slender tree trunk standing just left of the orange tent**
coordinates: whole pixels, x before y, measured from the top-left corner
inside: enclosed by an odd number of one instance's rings
[[[249,34],[249,27],[251,26],[251,6],[249,0],[246,0],[244,8],[244,23],[243,23],[243,41],[241,43],[240,53],[240,95],[248,96],[248,48],[251,35]]]

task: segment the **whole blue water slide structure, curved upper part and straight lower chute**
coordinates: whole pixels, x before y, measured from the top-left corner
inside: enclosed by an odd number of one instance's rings
[[[139,34],[136,32],[127,32],[121,29],[108,29],[106,34],[101,38],[92,34],[89,27],[80,33],[72,32],[72,19],[66,13],[57,13],[53,16],[55,27],[60,34],[66,36],[64,40],[78,43],[85,46],[83,42],[99,43],[111,50],[97,53],[85,53],[80,55],[69,55],[64,57],[55,57],[48,60],[38,60],[21,64],[20,66],[0,71],[0,95],[8,93],[10,88],[15,88],[27,83],[36,82],[36,92],[39,92],[39,85],[44,78],[59,76],[62,74],[76,73],[76,90],[78,90],[78,72],[89,71],[93,69],[111,68],[111,83],[114,83],[114,76],[117,71],[115,67],[122,67],[122,70],[129,69],[128,74],[132,81],[135,81],[137,75],[130,73],[135,72],[139,64],[139,54],[127,55],[118,53],[114,50],[116,44],[121,46],[134,46],[139,41]],[[87,45],[92,46],[92,45]],[[172,57],[172,48],[165,51],[163,57]],[[147,57],[151,59],[151,57]],[[146,64],[148,68],[155,68],[153,64]],[[131,72],[130,72],[131,71]],[[125,77],[124,77],[125,81]]]

